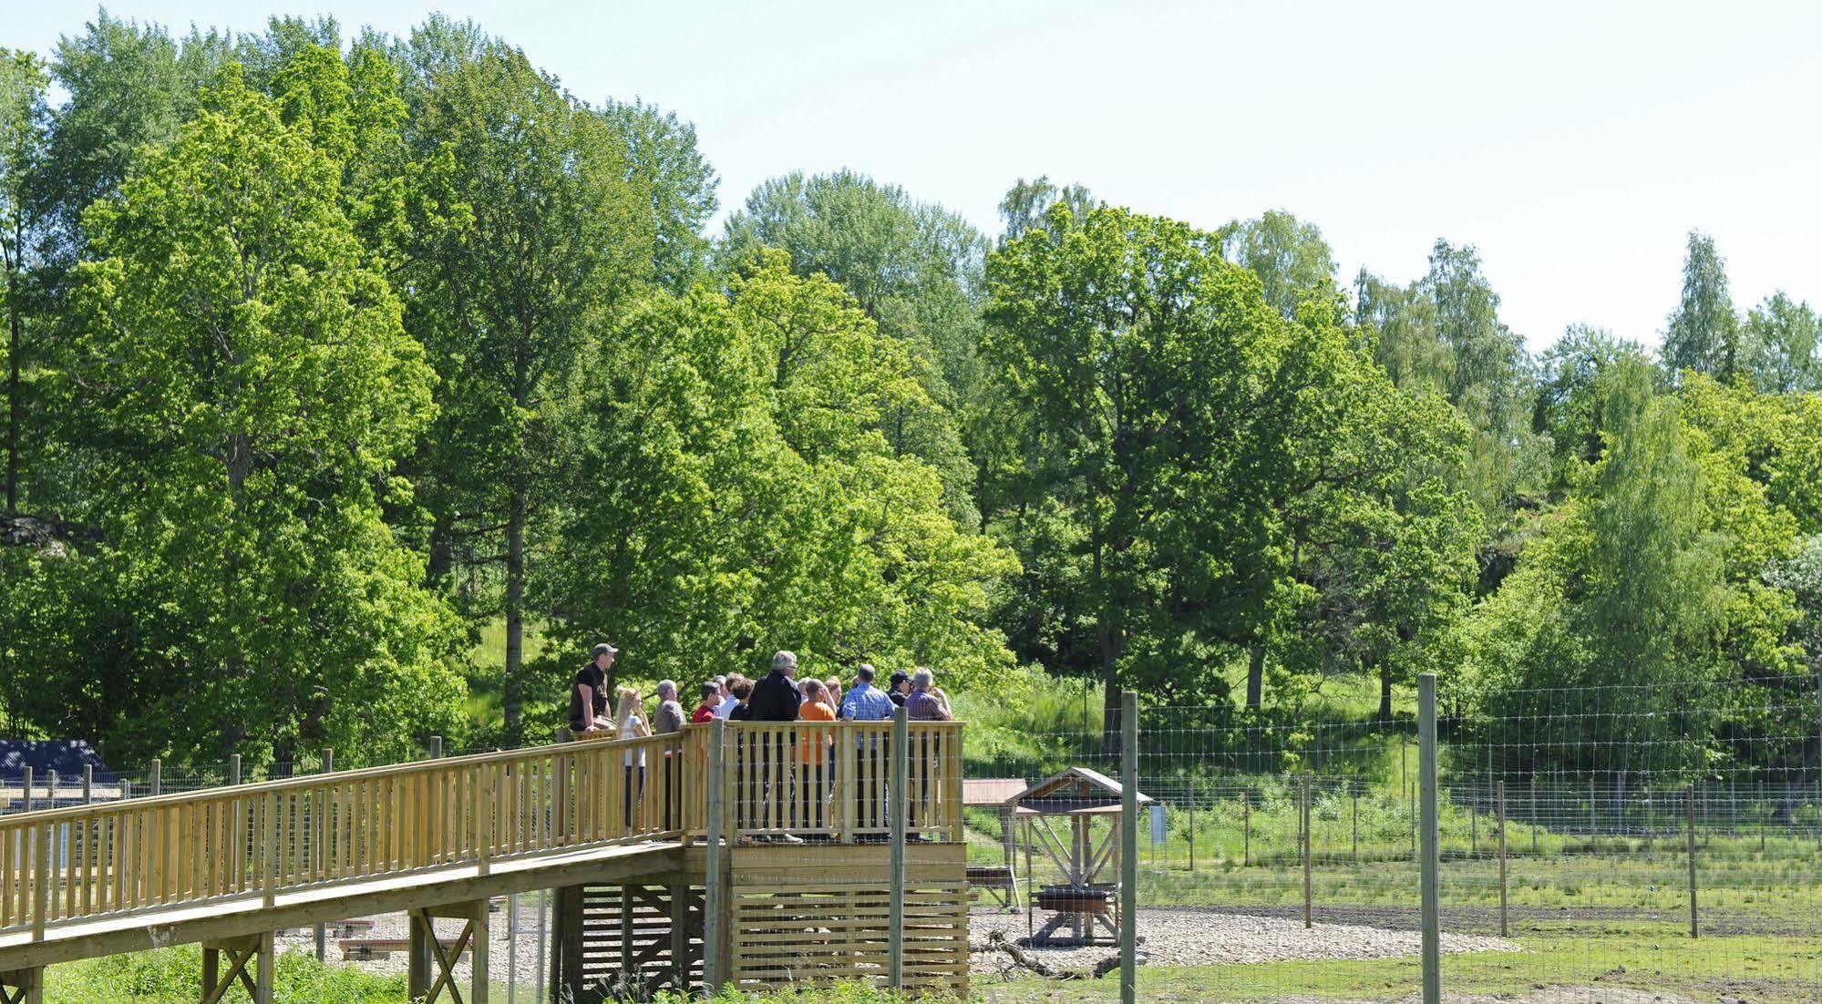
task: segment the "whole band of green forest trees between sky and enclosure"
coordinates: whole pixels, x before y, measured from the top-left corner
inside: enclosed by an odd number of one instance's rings
[[[711,228],[687,109],[441,16],[0,49],[0,733],[519,742],[612,640],[685,687],[1086,680],[1110,729],[1122,687],[1283,727],[1334,680],[1622,689],[1691,769],[1822,765],[1767,711],[1822,687],[1800,297],[1691,231],[1662,346],[1529,352],[1467,242],[1341,275],[1288,211],[1008,182],[998,233],[851,171]]]

